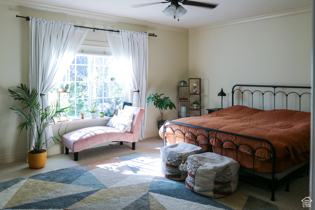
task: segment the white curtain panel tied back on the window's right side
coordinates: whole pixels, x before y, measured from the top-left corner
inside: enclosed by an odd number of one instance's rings
[[[109,48],[119,63],[117,71],[125,77],[134,91],[132,105],[145,109],[139,140],[146,138],[146,91],[148,75],[148,33],[134,31],[106,31]]]

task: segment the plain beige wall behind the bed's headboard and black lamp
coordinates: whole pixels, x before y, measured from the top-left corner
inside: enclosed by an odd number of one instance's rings
[[[202,78],[202,114],[232,105],[235,84],[311,85],[312,14],[189,32],[189,77]]]

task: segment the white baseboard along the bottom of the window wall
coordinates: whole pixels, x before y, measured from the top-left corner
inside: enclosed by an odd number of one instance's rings
[[[156,137],[156,136],[158,136],[158,131],[146,132],[146,138],[152,138],[152,137]],[[102,144],[91,146],[89,148],[106,146],[106,145],[110,145],[110,144],[117,144],[117,142],[105,142]],[[47,156],[58,155],[58,154],[62,154],[64,152],[65,152],[64,146],[55,147],[52,149],[48,149]],[[19,154],[14,154],[14,155],[2,156],[2,157],[0,157],[0,164],[17,162],[17,161],[25,161],[26,157],[27,157],[27,153],[19,153]]]

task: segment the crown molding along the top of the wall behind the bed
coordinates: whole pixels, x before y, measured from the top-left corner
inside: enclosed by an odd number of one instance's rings
[[[209,29],[213,29],[213,28],[221,28],[221,27],[226,27],[226,26],[236,26],[236,25],[242,25],[242,24],[247,24],[247,23],[272,20],[272,19],[276,19],[276,18],[283,18],[283,17],[305,14],[305,13],[311,13],[311,12],[312,12],[312,7],[293,9],[293,10],[289,10],[289,11],[285,11],[285,12],[266,14],[266,15],[252,17],[252,18],[245,18],[245,19],[241,19],[241,20],[234,20],[234,21],[229,21],[229,22],[225,22],[225,23],[219,23],[219,24],[214,24],[214,25],[209,25],[209,26],[202,26],[202,27],[198,27],[198,28],[192,28],[192,29],[189,29],[189,33],[195,32],[195,31],[209,30]]]

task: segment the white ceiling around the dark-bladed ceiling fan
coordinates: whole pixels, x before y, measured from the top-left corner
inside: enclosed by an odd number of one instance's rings
[[[162,13],[170,3],[164,0],[28,0],[28,2],[80,9],[100,14],[192,29],[233,20],[310,7],[312,0],[195,0],[218,4],[215,9],[182,5],[188,12],[180,20]],[[134,8],[132,5],[157,3]]]

